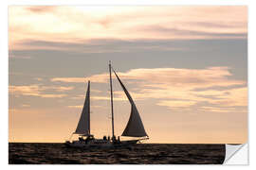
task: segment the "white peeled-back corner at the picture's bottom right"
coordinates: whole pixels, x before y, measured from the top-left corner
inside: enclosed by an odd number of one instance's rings
[[[248,164],[248,144],[225,144],[226,155],[223,164]]]

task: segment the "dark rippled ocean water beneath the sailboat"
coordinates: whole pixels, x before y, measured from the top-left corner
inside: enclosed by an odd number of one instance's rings
[[[225,144],[136,144],[125,148],[68,148],[9,143],[9,164],[221,164]]]

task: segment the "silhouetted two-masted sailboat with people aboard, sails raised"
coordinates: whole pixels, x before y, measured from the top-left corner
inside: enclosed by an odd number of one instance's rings
[[[126,94],[130,104],[131,104],[131,114],[129,121],[124,128],[121,136],[124,137],[135,137],[136,139],[133,140],[123,140],[121,141],[120,138],[118,139],[115,136],[114,130],[114,109],[113,109],[113,88],[112,88],[112,71],[114,72],[115,76],[117,76],[119,80],[119,84]],[[131,145],[137,144],[142,140],[148,140],[149,136],[145,131],[139,113],[137,111],[136,104],[127,91],[123,83],[121,82],[118,74],[115,72],[113,67],[111,66],[111,62],[109,61],[109,79],[110,79],[110,102],[111,102],[111,119],[112,119],[112,137],[103,136],[101,139],[96,139],[94,135],[91,133],[90,130],[90,81],[88,81],[87,92],[85,95],[85,100],[82,108],[82,114],[78,123],[76,130],[72,133],[78,134],[79,139],[70,141],[65,141],[66,146],[75,146],[75,147],[91,147],[91,146],[113,146],[113,145]],[[71,137],[72,137],[71,135]]]

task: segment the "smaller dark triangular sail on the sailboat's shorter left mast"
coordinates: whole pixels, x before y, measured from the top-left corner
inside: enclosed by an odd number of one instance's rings
[[[82,114],[74,134],[81,134],[85,136],[90,135],[90,81],[88,81],[88,88],[82,108]]]

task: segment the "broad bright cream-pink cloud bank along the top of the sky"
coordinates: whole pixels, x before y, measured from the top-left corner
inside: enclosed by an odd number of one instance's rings
[[[21,43],[25,40],[72,43],[95,39],[135,41],[198,38],[246,39],[247,8],[9,8],[9,48],[13,49],[27,49],[28,46]]]

